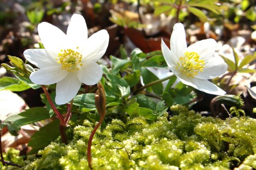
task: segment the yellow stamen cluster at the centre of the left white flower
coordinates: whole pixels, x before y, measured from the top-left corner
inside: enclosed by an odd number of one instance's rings
[[[76,47],[78,49],[78,47]],[[74,72],[79,70],[79,66],[83,66],[81,63],[82,55],[72,49],[62,50],[55,58],[59,64],[61,64],[61,69],[68,72]]]

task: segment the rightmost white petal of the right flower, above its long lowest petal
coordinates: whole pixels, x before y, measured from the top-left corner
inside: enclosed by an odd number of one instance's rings
[[[221,57],[211,57],[203,72],[198,72],[195,78],[198,79],[213,79],[215,77],[224,74],[227,71],[227,64],[223,61]]]

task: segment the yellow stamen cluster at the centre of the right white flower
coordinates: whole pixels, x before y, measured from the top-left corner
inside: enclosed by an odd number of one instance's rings
[[[199,71],[202,72],[204,69],[204,60],[199,59],[199,57],[196,52],[186,52],[184,57],[180,57],[180,62],[177,62],[176,68],[179,68],[186,76],[194,78]]]

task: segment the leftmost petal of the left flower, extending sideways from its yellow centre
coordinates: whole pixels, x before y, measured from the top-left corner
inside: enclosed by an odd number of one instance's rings
[[[57,64],[56,60],[49,57],[45,49],[27,49],[24,57],[38,68],[51,67]]]

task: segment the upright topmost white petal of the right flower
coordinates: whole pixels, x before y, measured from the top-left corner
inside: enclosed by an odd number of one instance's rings
[[[170,43],[173,56],[175,56],[177,59],[184,56],[187,44],[185,29],[182,23],[176,23],[174,25]]]

